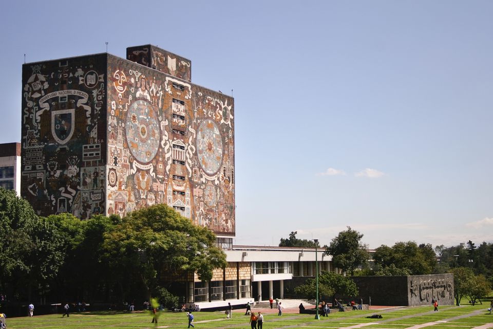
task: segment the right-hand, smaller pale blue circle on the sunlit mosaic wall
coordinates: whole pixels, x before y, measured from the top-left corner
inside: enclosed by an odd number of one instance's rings
[[[200,166],[207,174],[215,174],[221,167],[221,133],[211,119],[206,119],[200,123],[197,133],[197,155]]]

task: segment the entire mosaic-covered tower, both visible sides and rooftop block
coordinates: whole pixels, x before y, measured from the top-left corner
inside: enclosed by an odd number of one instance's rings
[[[145,47],[127,55],[146,66],[110,54],[23,66],[22,195],[82,219],[167,204],[234,235],[233,99],[187,81],[187,60],[185,73],[151,68],[161,49]]]

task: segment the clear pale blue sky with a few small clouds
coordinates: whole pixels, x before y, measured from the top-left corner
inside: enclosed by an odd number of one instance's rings
[[[235,97],[236,244],[346,226],[375,248],[493,241],[493,2],[0,4],[0,142],[27,62],[154,44]]]

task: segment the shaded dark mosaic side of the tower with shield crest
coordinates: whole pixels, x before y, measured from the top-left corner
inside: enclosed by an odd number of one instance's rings
[[[23,65],[21,195],[39,215],[105,212],[106,54]]]

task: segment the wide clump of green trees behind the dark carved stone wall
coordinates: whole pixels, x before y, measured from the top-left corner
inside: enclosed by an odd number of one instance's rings
[[[430,244],[418,246],[414,241],[397,242],[392,247],[382,245],[375,249],[373,261],[383,269],[393,264],[412,275],[430,274],[437,263]]]

